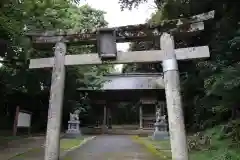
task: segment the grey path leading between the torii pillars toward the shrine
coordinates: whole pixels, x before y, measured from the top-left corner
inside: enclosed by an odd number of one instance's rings
[[[97,136],[62,160],[157,160],[129,136]]]

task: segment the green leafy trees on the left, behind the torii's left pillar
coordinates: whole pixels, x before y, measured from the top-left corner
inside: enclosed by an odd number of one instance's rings
[[[13,59],[24,62],[29,57],[53,56],[53,51],[34,49],[24,33],[55,29],[74,29],[85,32],[107,25],[104,12],[88,5],[78,7],[68,0],[1,1],[0,22],[0,38],[3,41],[0,41],[0,45],[3,44],[7,48],[0,53],[6,62],[0,68],[0,94],[3,98],[0,104],[1,110],[4,111],[1,112],[3,114],[1,117],[3,119],[7,117],[6,110],[14,113],[18,104],[22,108],[33,111],[35,117],[40,116],[38,111],[42,110],[46,119],[51,69],[29,70],[24,63],[16,63]],[[71,54],[89,53],[93,50],[94,46],[68,48]],[[85,95],[80,95],[76,89],[99,87],[101,75],[111,69],[111,65],[67,67],[64,120],[68,118],[68,112],[73,108],[89,108],[88,104],[82,101]],[[18,98],[20,95],[23,95],[22,98]],[[13,119],[13,115],[8,118]],[[42,124],[37,126],[43,125],[44,122],[39,123]]]

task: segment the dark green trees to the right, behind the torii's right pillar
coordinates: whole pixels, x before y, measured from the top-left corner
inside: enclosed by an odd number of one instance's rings
[[[131,8],[147,1],[120,1],[122,7]],[[204,32],[183,39],[176,47],[209,45],[211,58],[191,62],[179,62],[180,71],[187,72],[182,80],[182,95],[188,129],[199,130],[214,124],[235,119],[239,114],[239,9],[238,1],[217,0],[161,0],[158,10],[148,23],[159,24],[163,20],[189,17],[215,10],[213,21],[205,24]],[[133,50],[159,49],[155,42],[132,44]],[[161,70],[156,64],[126,65],[126,71]]]

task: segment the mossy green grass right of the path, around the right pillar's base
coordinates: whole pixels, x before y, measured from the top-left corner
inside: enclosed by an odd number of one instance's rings
[[[206,130],[205,135],[212,137],[211,139],[211,149],[201,150],[201,151],[190,151],[190,160],[240,160],[240,148],[230,147],[231,140],[224,139],[221,140],[220,137],[221,126],[214,127],[212,129]],[[190,137],[189,137],[190,138]],[[146,148],[161,157],[161,159],[171,159],[171,149],[170,141],[152,141],[150,138],[146,137],[134,137],[134,139],[146,146]]]

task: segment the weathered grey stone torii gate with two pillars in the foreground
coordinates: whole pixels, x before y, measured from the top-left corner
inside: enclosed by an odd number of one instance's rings
[[[104,64],[105,60],[110,60],[108,63],[112,64],[162,61],[172,159],[187,160],[187,140],[183,120],[177,60],[206,58],[210,56],[210,53],[208,46],[175,49],[173,36],[171,35],[177,37],[179,33],[184,32],[184,34],[187,34],[203,30],[203,21],[212,19],[213,17],[214,11],[211,11],[190,18],[164,21],[163,24],[157,26],[149,26],[147,24],[123,26],[107,30],[100,29],[98,30],[99,32],[94,31],[85,34],[62,30],[44,33],[27,33],[36,48],[53,47],[55,45],[54,57],[31,59],[29,65],[29,68],[32,69],[53,68],[45,160],[59,159],[59,136],[65,65],[99,65]],[[159,30],[161,30],[161,33]],[[116,52],[116,42],[146,41],[153,40],[153,37],[159,38],[160,36],[161,50]],[[66,44],[96,44],[96,42],[98,42],[100,49],[98,54],[65,55],[67,51]]]

